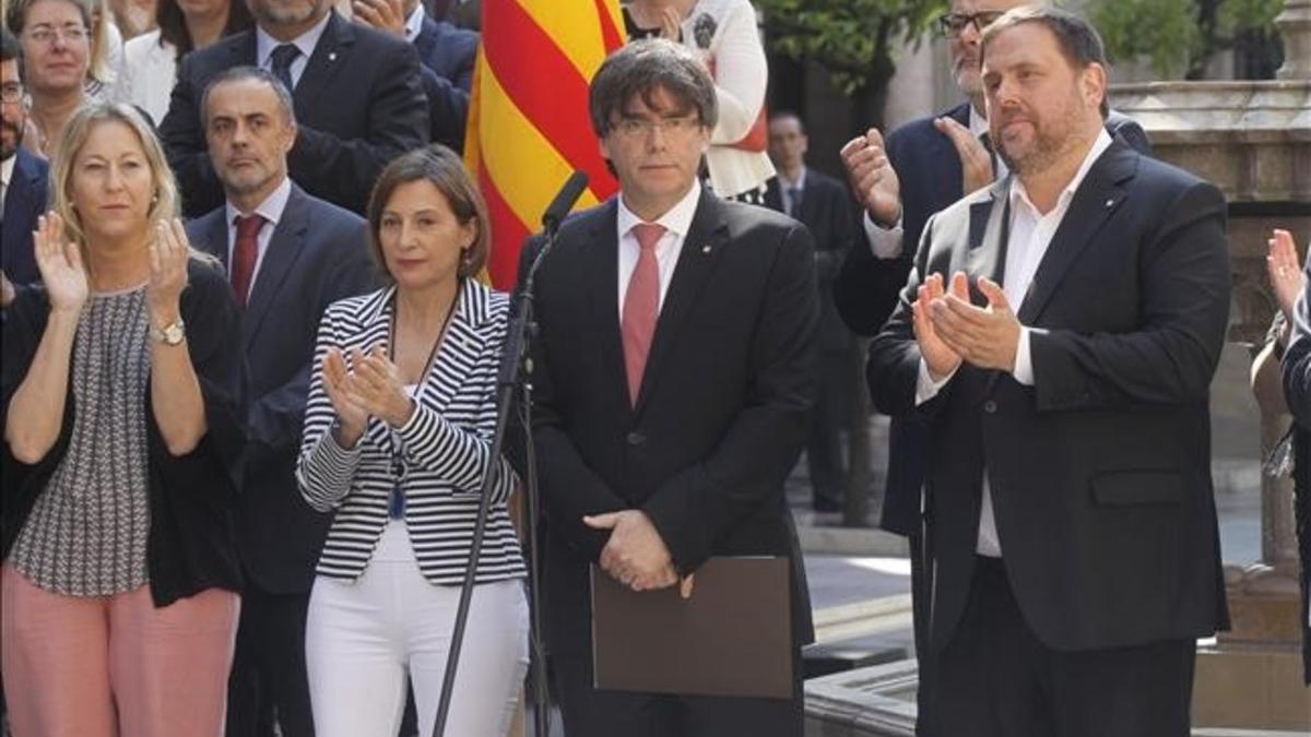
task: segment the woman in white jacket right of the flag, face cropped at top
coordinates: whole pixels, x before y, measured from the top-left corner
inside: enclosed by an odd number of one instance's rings
[[[773,164],[766,153],[770,70],[755,8],[749,0],[633,0],[624,16],[629,39],[678,41],[705,63],[720,109],[705,152],[711,188],[720,197],[763,202]]]

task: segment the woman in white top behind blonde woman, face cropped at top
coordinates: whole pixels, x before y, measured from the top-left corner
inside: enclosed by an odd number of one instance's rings
[[[178,59],[254,21],[245,0],[159,0],[155,13],[159,28],[123,49],[117,97],[146,110],[159,125],[168,113]]]

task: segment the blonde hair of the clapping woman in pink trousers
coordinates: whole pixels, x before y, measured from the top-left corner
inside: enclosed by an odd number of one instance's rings
[[[83,146],[87,144],[87,138],[90,136],[90,131],[105,123],[122,123],[131,129],[140,140],[153,180],[151,209],[146,214],[147,222],[172,220],[178,216],[177,181],[173,178],[173,169],[169,168],[168,160],[164,157],[164,147],[155,138],[155,131],[131,105],[90,101],[73,113],[72,119],[64,126],[64,135],[59,142],[59,156],[55,156],[50,167],[52,210],[64,219],[64,237],[76,243],[83,249],[83,254],[87,250],[87,232],[83,228],[81,216],[72,203],[73,167]]]

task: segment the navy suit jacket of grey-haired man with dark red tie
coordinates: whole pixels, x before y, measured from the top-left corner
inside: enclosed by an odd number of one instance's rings
[[[187,236],[227,264],[223,207],[190,222]],[[246,574],[266,591],[307,593],[313,582],[332,517],[300,500],[295,464],[315,336],[329,304],[375,283],[364,220],[292,185],[241,315],[250,401],[237,540]]]

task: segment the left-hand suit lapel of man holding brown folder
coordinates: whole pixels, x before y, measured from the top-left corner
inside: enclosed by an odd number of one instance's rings
[[[587,248],[597,249],[587,261],[586,291],[591,298],[591,315],[595,320],[593,334],[597,336],[603,374],[612,378],[604,391],[621,407],[631,408],[628,401],[628,379],[624,371],[624,345],[619,332],[619,198],[606,203],[604,212],[595,218]]]

